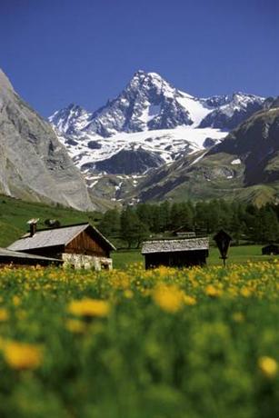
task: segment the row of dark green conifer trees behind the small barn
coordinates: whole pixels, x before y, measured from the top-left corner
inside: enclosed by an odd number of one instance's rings
[[[98,228],[110,239],[121,240],[128,248],[139,247],[144,239],[174,234],[183,227],[195,234],[214,234],[223,228],[234,244],[279,242],[279,207],[265,204],[209,202],[137,204],[121,211],[110,209]]]

